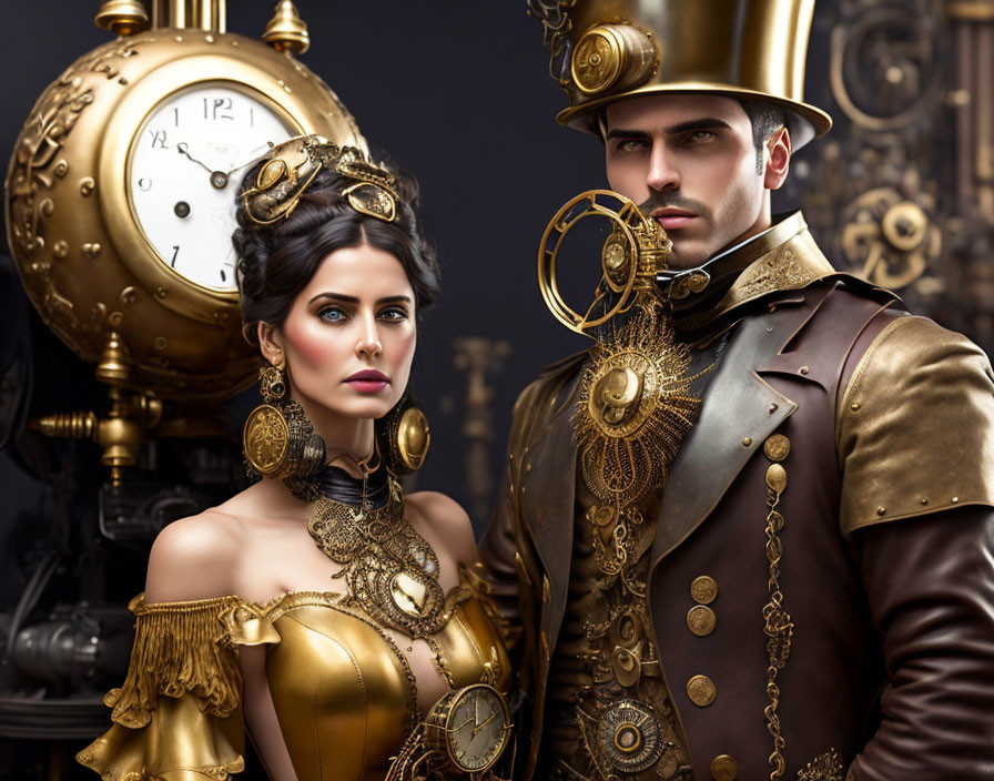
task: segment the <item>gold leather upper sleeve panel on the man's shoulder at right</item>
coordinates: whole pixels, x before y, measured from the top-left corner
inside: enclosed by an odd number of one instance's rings
[[[842,531],[994,505],[992,420],[994,375],[980,347],[923,317],[894,321],[836,413]]]

